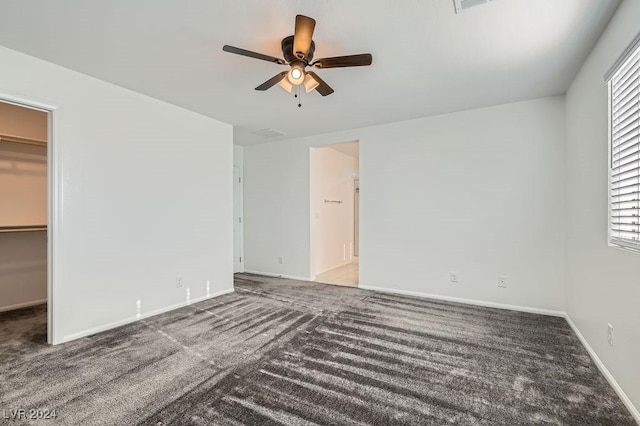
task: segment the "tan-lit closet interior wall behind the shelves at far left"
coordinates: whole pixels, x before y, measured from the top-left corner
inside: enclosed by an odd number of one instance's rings
[[[46,141],[47,114],[0,102],[0,135]],[[46,147],[0,142],[0,226],[46,224]],[[46,298],[46,232],[0,233],[0,311]]]

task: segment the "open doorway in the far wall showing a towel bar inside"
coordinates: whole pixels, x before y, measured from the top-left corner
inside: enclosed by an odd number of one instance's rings
[[[315,281],[356,287],[359,281],[359,145],[312,149],[311,252]]]

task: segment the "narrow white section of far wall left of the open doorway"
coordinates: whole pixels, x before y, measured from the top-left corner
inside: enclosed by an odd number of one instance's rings
[[[311,278],[309,146],[244,147],[246,272]]]

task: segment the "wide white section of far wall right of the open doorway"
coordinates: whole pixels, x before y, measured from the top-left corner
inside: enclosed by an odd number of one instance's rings
[[[563,97],[378,128],[361,141],[361,282],[564,310],[564,131]]]

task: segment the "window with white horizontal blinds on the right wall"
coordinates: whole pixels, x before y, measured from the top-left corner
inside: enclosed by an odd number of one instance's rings
[[[640,250],[640,36],[607,75],[609,242]]]

